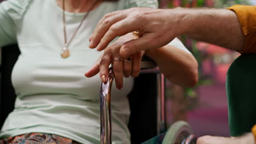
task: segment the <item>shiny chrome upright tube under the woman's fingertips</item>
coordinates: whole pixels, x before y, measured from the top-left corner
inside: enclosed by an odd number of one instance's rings
[[[101,82],[100,112],[101,112],[101,144],[111,144],[111,87],[114,80],[114,72],[109,68],[107,83]]]

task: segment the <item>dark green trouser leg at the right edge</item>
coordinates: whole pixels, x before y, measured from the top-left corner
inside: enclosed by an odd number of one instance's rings
[[[226,93],[229,103],[231,136],[251,132],[256,124],[256,55],[242,54],[226,74]]]

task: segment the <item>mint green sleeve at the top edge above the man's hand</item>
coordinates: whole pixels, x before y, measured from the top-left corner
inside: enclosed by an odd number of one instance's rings
[[[126,1],[126,8],[133,7],[147,7],[147,8],[158,8],[157,0],[130,0]]]

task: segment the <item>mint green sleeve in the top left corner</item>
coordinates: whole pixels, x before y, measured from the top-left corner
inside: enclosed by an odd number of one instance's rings
[[[8,0],[0,3],[0,47],[17,43],[17,28],[27,3],[25,0]]]

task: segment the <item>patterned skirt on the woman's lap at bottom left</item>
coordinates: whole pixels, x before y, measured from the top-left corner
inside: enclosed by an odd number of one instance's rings
[[[28,133],[0,140],[0,144],[79,144],[73,140],[54,134]]]

